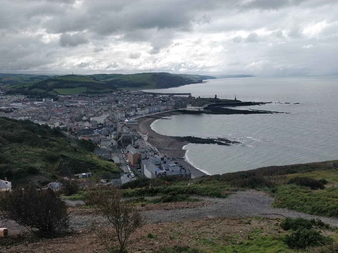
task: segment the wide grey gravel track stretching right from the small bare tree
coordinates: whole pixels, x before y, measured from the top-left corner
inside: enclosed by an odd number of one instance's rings
[[[316,215],[310,215],[306,213],[297,212],[285,208],[275,208],[271,206],[273,198],[269,194],[256,191],[246,190],[237,191],[235,194],[231,194],[228,198],[202,198],[210,201],[211,204],[207,206],[201,206],[189,209],[172,209],[172,210],[152,210],[146,211],[148,223],[156,222],[170,222],[170,221],[189,221],[199,220],[203,218],[214,217],[279,217],[282,214],[290,217],[302,217],[305,219],[320,219],[325,223],[329,223],[331,226],[338,227],[337,218],[322,217]],[[271,213],[267,215],[266,213]],[[273,214],[272,214],[273,213]]]

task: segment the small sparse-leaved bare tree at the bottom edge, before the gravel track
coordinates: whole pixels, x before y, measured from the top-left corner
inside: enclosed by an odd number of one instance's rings
[[[109,252],[127,253],[129,236],[144,225],[144,217],[134,203],[122,201],[122,191],[113,186],[100,185],[87,195],[87,204],[96,209],[96,213],[107,217],[114,232],[92,223],[91,229]],[[119,247],[113,242],[119,242]]]

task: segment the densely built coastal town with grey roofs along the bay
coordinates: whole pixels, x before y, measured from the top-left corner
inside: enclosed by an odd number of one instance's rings
[[[121,90],[112,94],[58,96],[55,101],[2,93],[0,116],[45,124],[73,138],[95,142],[98,148],[94,153],[112,159],[121,168],[120,178],[101,179],[101,182],[119,185],[138,177],[194,177],[184,159],[182,145],[172,151],[161,149],[161,141],[149,138],[151,130],[145,131],[139,124],[147,120],[151,123],[156,118],[168,119],[164,116],[192,106],[199,106],[199,100],[189,94],[157,95]],[[158,114],[162,116],[156,117]],[[74,177],[82,178],[82,175]]]

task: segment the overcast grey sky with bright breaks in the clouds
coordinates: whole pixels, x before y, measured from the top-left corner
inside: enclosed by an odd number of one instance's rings
[[[338,74],[338,1],[0,0],[1,73]]]

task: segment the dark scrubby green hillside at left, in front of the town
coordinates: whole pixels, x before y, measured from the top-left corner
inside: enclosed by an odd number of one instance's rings
[[[78,140],[29,120],[0,117],[0,178],[13,185],[46,185],[58,177],[91,171],[107,176],[120,169],[96,156],[96,144]],[[47,183],[46,183],[47,182]]]

